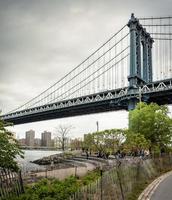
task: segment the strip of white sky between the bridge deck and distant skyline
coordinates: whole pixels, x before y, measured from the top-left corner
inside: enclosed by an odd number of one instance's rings
[[[84,134],[95,132],[97,130],[96,122],[99,123],[99,130],[112,128],[127,128],[128,113],[126,111],[116,111],[107,113],[99,113],[94,115],[83,115],[80,117],[69,117],[65,119],[54,119],[42,122],[28,123],[17,125],[9,128],[16,132],[16,137],[24,138],[25,132],[32,129],[35,131],[35,137],[41,138],[41,133],[50,131],[53,134],[57,131],[59,125],[72,125],[69,131],[69,137],[83,137]]]

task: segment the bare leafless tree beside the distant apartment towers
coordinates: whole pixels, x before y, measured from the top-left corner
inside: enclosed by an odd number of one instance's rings
[[[54,134],[55,139],[59,142],[60,148],[64,151],[67,142],[68,142],[68,134],[73,127],[71,125],[59,125],[56,128],[56,133]]]

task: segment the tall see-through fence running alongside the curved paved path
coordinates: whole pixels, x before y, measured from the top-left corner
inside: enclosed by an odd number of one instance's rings
[[[130,159],[104,172],[94,183],[80,188],[70,200],[125,200],[139,184],[172,169],[172,158]]]

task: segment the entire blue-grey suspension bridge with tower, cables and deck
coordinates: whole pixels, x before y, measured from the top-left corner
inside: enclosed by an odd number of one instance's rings
[[[23,124],[172,103],[172,17],[136,18],[54,85],[1,116]]]

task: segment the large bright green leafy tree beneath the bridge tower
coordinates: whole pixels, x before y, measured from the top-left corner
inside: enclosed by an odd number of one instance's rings
[[[130,131],[144,135],[151,147],[162,150],[171,144],[172,119],[168,116],[167,106],[139,103],[135,110],[130,111],[129,120]]]

